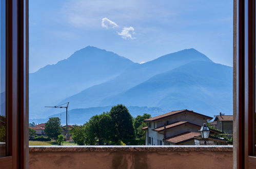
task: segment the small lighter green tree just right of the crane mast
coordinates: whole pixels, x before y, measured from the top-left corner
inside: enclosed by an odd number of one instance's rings
[[[73,141],[78,145],[85,144],[85,127],[83,125],[74,125],[71,131]]]

